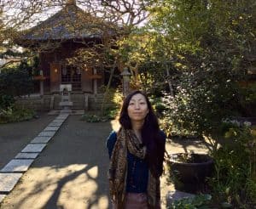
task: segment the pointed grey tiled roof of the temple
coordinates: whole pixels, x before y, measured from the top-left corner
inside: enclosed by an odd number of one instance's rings
[[[101,38],[103,33],[113,35],[111,25],[102,19],[84,12],[75,4],[67,4],[61,11],[23,31],[21,39],[29,41],[46,41],[78,38]]]

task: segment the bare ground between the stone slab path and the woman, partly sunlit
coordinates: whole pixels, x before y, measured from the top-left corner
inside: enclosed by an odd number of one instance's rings
[[[110,122],[69,116],[1,208],[109,208]]]

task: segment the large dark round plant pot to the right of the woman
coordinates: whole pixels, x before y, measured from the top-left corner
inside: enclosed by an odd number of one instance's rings
[[[175,189],[189,193],[201,191],[213,171],[213,160],[205,154],[172,154],[168,164]]]

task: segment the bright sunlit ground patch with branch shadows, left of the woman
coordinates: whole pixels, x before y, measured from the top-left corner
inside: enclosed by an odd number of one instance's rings
[[[19,195],[12,203],[14,208],[46,208],[53,202],[55,208],[108,208],[108,196],[95,195],[97,177],[98,167],[87,165],[32,167],[21,180],[26,184],[18,184],[15,188],[14,192]]]

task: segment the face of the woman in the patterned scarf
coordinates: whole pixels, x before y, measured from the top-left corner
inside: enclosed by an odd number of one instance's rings
[[[131,97],[127,112],[131,121],[144,121],[148,114],[148,104],[143,94],[137,93]]]

